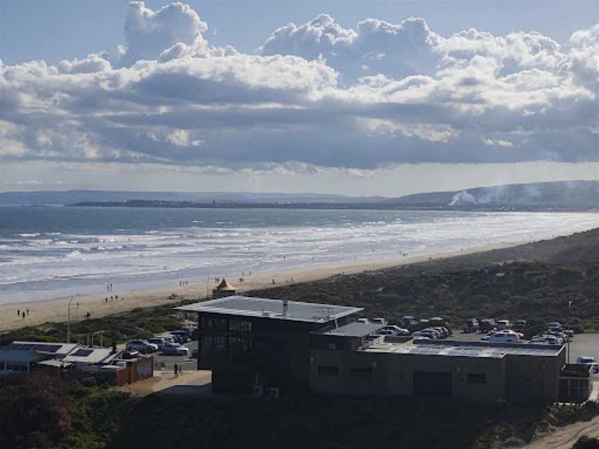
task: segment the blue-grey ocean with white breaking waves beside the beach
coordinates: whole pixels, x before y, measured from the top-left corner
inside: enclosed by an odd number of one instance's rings
[[[599,213],[0,207],[0,303],[521,242]]]

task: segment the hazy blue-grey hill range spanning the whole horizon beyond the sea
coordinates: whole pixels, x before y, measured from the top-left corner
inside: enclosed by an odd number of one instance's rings
[[[416,193],[351,197],[319,193],[37,191],[0,193],[0,205],[78,204],[130,207],[281,207],[314,209],[434,209],[589,211],[599,209],[599,181],[537,182]]]

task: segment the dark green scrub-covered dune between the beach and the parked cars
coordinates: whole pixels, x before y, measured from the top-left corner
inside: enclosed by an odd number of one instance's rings
[[[254,290],[254,296],[365,308],[397,322],[441,316],[527,319],[533,327],[568,321],[599,329],[599,229],[519,247],[436,259],[320,281]],[[568,307],[568,304],[571,306]]]

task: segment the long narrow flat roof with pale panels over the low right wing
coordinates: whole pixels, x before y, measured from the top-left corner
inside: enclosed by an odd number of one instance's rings
[[[410,340],[406,343],[377,343],[364,351],[449,357],[503,358],[505,355],[555,357],[562,351],[559,344],[455,342],[453,340]]]

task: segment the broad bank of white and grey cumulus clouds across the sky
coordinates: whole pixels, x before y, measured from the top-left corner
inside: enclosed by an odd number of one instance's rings
[[[200,12],[201,13],[201,12]],[[225,170],[599,161],[599,24],[450,36],[326,14],[256,54],[189,6],[130,3],[116,52],[0,63],[0,161]]]

